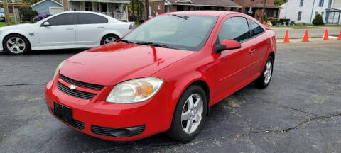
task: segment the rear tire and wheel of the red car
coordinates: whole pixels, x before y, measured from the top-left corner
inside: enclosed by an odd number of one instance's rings
[[[274,59],[269,56],[266,60],[261,76],[254,81],[254,85],[259,89],[265,89],[270,84],[272,72],[274,72]]]

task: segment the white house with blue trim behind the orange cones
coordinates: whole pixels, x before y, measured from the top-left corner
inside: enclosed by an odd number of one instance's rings
[[[281,7],[280,18],[296,23],[312,23],[317,14],[325,23],[340,23],[341,0],[288,0]]]

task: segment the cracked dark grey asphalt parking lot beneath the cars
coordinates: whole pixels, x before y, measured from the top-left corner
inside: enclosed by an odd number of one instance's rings
[[[341,152],[341,42],[279,43],[267,89],[212,106],[200,135],[110,142],[67,128],[45,106],[55,67],[81,50],[0,52],[0,152]]]

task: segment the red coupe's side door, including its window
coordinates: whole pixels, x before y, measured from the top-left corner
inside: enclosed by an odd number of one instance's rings
[[[249,25],[247,18],[233,16],[227,18],[217,35],[217,42],[224,39],[236,40],[241,44],[241,48],[235,50],[225,50],[220,52],[216,62],[215,79],[217,96],[224,96],[242,87],[247,79],[251,77],[249,65],[251,64],[251,42]]]

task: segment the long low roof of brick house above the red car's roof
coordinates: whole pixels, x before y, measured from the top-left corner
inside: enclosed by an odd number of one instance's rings
[[[231,0],[166,0],[168,5],[242,7]]]

